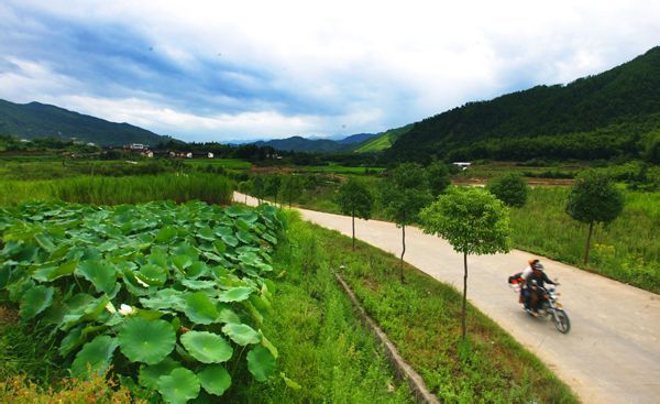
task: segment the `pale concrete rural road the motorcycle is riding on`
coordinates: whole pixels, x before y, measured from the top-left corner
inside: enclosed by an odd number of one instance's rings
[[[234,194],[234,199],[245,197]],[[250,205],[256,200],[248,197]],[[302,218],[351,234],[351,218],[298,209]],[[400,229],[377,220],[355,220],[355,237],[400,254]],[[405,260],[440,282],[463,285],[462,255],[444,240],[406,228]],[[660,295],[541,258],[559,277],[561,302],[571,319],[568,335],[551,321],[525,314],[507,277],[530,253],[468,258],[468,298],[566,382],[583,403],[660,403]]]

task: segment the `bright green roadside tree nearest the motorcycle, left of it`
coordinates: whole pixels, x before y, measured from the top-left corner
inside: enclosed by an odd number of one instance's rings
[[[419,215],[426,233],[446,239],[463,254],[462,338],[465,338],[468,255],[510,251],[508,209],[502,200],[480,188],[457,188],[442,195]]]

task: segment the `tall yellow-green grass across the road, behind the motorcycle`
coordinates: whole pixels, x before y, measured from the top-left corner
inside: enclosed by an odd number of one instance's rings
[[[569,189],[535,188],[527,205],[512,209],[516,248],[582,265],[587,226],[564,210]],[[587,270],[660,292],[660,193],[626,192],[622,215],[598,226]]]

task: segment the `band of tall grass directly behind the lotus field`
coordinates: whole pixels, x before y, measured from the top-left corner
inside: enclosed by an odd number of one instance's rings
[[[84,176],[52,181],[0,181],[0,206],[61,199],[95,205],[199,199],[229,204],[232,183],[212,174],[163,174],[127,177]]]

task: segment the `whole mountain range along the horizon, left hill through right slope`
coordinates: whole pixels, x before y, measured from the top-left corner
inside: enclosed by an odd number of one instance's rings
[[[155,145],[172,139],[55,106],[6,100],[0,100],[0,134],[76,138],[100,145]],[[255,144],[315,153],[384,152],[386,161],[656,155],[660,153],[660,47],[566,85],[536,86],[468,102],[381,133],[341,140],[293,137]]]

